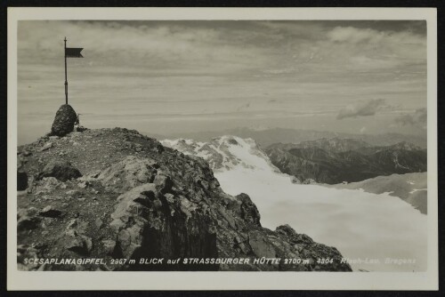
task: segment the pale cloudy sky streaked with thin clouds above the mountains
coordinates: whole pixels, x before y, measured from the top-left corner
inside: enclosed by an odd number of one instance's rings
[[[424,21],[20,21],[19,143],[89,128],[425,133]]]

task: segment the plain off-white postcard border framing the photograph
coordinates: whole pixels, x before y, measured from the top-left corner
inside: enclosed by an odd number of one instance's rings
[[[17,270],[19,20],[427,20],[426,272],[54,272]],[[8,8],[8,290],[437,290],[437,13],[434,8]]]

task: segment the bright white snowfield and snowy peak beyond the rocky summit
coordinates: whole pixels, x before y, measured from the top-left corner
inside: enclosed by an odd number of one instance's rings
[[[336,246],[345,258],[356,261],[352,269],[426,269],[427,217],[398,197],[292,183],[290,176],[271,165],[254,140],[223,136],[209,143],[162,143],[184,154],[204,157],[225,192],[243,192],[252,198],[262,213],[264,227],[274,229],[288,223],[297,232]],[[385,263],[387,258],[411,263]]]

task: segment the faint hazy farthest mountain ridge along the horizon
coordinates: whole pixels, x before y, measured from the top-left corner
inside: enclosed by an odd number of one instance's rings
[[[210,141],[221,135],[237,135],[240,138],[252,138],[262,148],[266,148],[273,143],[300,143],[309,140],[320,139],[354,139],[362,140],[371,146],[390,146],[398,142],[407,141],[413,143],[417,147],[426,148],[426,135],[408,135],[400,133],[383,133],[383,134],[353,134],[329,131],[315,131],[303,129],[286,129],[286,128],[235,128],[223,131],[207,131],[207,132],[185,132],[170,133],[167,135],[155,135],[147,133],[150,137],[162,139],[191,139],[198,141]]]

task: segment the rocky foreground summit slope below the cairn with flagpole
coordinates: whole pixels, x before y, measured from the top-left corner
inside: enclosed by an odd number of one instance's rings
[[[44,136],[20,146],[18,161],[28,177],[18,192],[22,270],[351,271],[335,247],[287,225],[263,228],[250,197],[224,193],[203,158],[136,131]],[[179,258],[232,261],[167,263]]]

